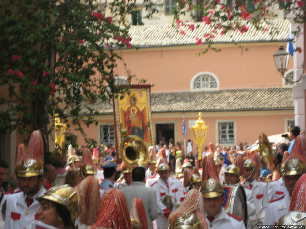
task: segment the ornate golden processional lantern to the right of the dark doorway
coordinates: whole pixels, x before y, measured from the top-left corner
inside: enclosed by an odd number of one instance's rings
[[[199,112],[199,119],[196,124],[191,127],[196,144],[198,146],[198,159],[202,157],[202,145],[205,143],[206,134],[208,131],[208,125],[205,125],[205,121],[201,118],[202,112]]]

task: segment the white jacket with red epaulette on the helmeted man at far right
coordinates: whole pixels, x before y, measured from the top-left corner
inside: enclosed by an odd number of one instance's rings
[[[263,225],[276,225],[280,217],[288,212],[291,197],[283,195],[282,197],[271,200],[268,203]]]

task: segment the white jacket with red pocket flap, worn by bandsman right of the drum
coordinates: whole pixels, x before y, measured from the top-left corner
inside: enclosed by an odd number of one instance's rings
[[[250,201],[250,197],[248,197],[249,191],[252,190],[254,195],[254,201],[251,202],[254,204],[258,213],[261,217],[264,217],[267,205],[268,205],[268,190],[267,190],[267,183],[260,182],[257,180],[253,180],[252,183],[248,182],[246,179],[241,181],[241,186],[245,187],[245,194],[247,195],[247,199]]]

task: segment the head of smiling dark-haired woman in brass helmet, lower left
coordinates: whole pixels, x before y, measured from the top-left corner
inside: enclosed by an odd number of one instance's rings
[[[43,196],[36,198],[40,208],[36,214],[39,221],[35,228],[74,229],[78,216],[78,198],[68,184],[51,187]]]

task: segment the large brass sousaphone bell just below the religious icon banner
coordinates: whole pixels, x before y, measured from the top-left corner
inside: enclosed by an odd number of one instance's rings
[[[121,141],[119,154],[130,168],[133,165],[144,167],[149,159],[147,143],[135,135],[129,135]]]

